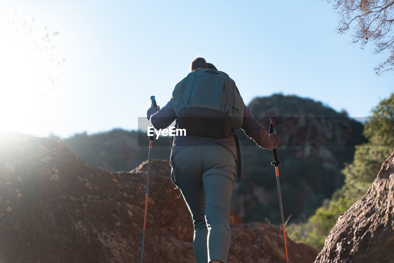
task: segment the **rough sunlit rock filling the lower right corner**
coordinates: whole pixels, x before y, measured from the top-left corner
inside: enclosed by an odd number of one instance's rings
[[[394,153],[367,194],[342,213],[316,263],[394,262]]]

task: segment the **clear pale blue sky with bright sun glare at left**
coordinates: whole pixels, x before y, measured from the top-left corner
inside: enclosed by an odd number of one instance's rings
[[[0,0],[0,133],[136,130],[151,95],[164,106],[198,56],[245,104],[282,93],[370,116],[394,72],[376,76],[385,54],[336,34],[338,19],[316,0]]]

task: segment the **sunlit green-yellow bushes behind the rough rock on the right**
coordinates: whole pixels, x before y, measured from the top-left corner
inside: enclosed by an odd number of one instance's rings
[[[381,101],[372,111],[372,118],[364,124],[363,134],[368,142],[355,146],[354,160],[342,170],[345,185],[336,190],[331,200],[324,200],[307,222],[291,224],[289,236],[321,250],[324,240],[338,216],[359,200],[371,186],[381,164],[392,153],[394,146],[394,94]],[[379,145],[379,146],[376,146]],[[383,146],[381,146],[383,145]]]

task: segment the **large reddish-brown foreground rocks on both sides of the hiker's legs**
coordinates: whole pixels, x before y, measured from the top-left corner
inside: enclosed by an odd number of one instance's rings
[[[146,167],[107,172],[46,138],[0,138],[0,261],[138,262]],[[193,223],[168,161],[152,160],[144,262],[195,262]],[[227,262],[284,261],[281,229],[231,215]],[[317,252],[287,239],[292,262]]]

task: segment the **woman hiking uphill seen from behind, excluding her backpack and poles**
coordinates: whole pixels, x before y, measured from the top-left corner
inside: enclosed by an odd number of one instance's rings
[[[191,72],[208,66],[216,70],[204,58],[196,58],[191,63]],[[147,118],[155,129],[165,129],[177,119],[173,97],[159,109],[149,108]],[[241,129],[262,148],[275,149],[279,145],[276,133],[268,134],[244,104]],[[180,189],[193,219],[197,263],[226,263],[231,239],[230,202],[240,158],[234,134],[209,138],[187,133],[186,130],[186,136],[174,138],[171,180]]]

